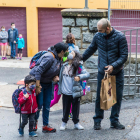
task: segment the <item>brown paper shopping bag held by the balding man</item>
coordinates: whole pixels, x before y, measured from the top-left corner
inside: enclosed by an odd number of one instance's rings
[[[116,103],[116,76],[105,73],[101,83],[100,108],[102,110],[108,110]]]

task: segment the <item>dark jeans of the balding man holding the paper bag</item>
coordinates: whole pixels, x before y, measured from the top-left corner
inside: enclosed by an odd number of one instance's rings
[[[98,73],[98,85],[97,85],[97,97],[95,103],[95,116],[93,117],[94,122],[101,122],[104,118],[104,110],[100,109],[100,88],[101,80],[104,78],[104,75]],[[123,87],[124,87],[124,70],[121,70],[116,74],[116,98],[117,103],[112,107],[110,121],[111,123],[116,123],[119,121],[119,113],[121,109],[121,102],[123,96]]]

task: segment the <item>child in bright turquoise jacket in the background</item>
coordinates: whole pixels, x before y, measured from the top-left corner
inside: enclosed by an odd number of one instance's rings
[[[22,59],[22,50],[25,47],[25,42],[24,42],[24,38],[22,37],[22,34],[19,34],[19,38],[17,38],[17,42],[16,44],[18,44],[18,57],[17,59],[21,60]]]

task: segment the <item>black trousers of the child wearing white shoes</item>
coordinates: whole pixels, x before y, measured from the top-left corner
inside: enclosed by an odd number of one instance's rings
[[[73,98],[72,95],[63,94],[63,118],[62,118],[63,122],[67,123],[68,121],[71,104],[73,115],[72,120],[74,124],[77,124],[79,122],[80,100],[81,100],[80,97]]]

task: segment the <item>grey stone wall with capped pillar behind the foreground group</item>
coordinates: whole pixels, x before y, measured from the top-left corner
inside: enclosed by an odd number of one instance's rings
[[[97,22],[101,18],[107,18],[107,10],[86,10],[86,9],[65,9],[61,11],[63,17],[63,41],[66,41],[68,33],[72,33],[76,39],[76,45],[80,49],[80,53],[87,49],[90,45],[94,34],[97,32]],[[130,66],[131,75],[135,74],[135,64],[132,60]],[[90,79],[88,85],[91,87],[91,92],[82,97],[82,102],[95,101],[97,91],[97,73],[98,73],[98,51],[85,62],[86,69],[90,72]],[[140,64],[138,64],[138,69]],[[140,70],[137,69],[137,74]],[[129,74],[128,62],[125,64],[125,75]],[[125,84],[129,83],[128,76],[125,77]],[[135,83],[135,78],[130,79],[130,83]],[[140,83],[140,78],[136,78],[136,83]],[[129,96],[128,96],[129,90]],[[140,86],[136,87],[136,92],[140,92]],[[135,86],[124,86],[124,97],[133,97],[135,93]],[[138,95],[137,95],[138,96]]]

